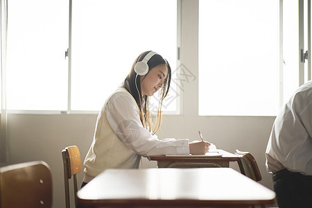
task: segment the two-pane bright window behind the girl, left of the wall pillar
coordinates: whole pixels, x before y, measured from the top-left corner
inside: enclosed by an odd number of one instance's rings
[[[69,73],[69,1],[10,1],[8,109],[98,111],[148,50],[176,69],[176,0],[72,3]],[[173,90],[164,111],[176,110]]]

